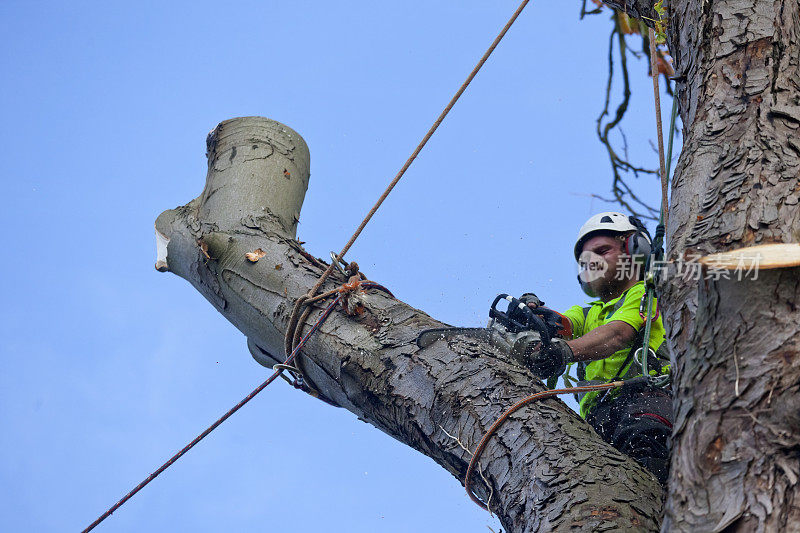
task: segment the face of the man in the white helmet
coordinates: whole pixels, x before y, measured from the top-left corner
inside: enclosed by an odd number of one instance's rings
[[[623,256],[622,241],[610,235],[595,235],[583,243],[578,263],[581,266],[581,280],[588,283],[600,297],[616,291],[630,276],[620,279],[617,275],[620,257]]]

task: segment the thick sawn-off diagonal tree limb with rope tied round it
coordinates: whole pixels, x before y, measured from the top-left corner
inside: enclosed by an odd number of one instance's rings
[[[223,122],[208,147],[203,194],[156,221],[159,238],[168,240],[157,266],[196,287],[269,365],[283,359],[292,305],[324,266],[294,240],[308,150],[295,132],[261,118]],[[265,255],[257,262],[245,257],[258,248]],[[325,289],[344,281],[335,275]],[[468,450],[541,382],[477,340],[420,350],[420,330],[440,322],[383,293],[360,298],[364,315],[337,310],[306,345],[308,376],[325,397],[463,479]],[[508,531],[659,527],[655,479],[559,400],[512,416],[480,465],[488,485],[479,477],[474,487]]]

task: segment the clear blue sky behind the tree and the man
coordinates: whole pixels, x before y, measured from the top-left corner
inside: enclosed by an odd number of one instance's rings
[[[325,257],[516,5],[0,4],[0,530],[81,530],[267,376],[199,293],[153,268],[155,218],[203,188],[206,134],[262,115],[305,138],[298,237]],[[594,131],[609,13],[579,8],[528,6],[348,254],[400,299],[467,326],[499,292],[586,301],[573,240],[616,207],[588,196],[611,184]],[[625,131],[653,167],[644,61],[631,76]],[[654,178],[636,186],[657,204]],[[278,381],[98,531],[487,526],[432,460]]]

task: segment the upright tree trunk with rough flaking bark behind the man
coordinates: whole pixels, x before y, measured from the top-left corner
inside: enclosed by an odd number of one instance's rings
[[[683,153],[668,257],[800,242],[800,4],[675,0]],[[800,270],[660,300],[676,370],[664,531],[800,531]],[[713,274],[713,273],[712,273]]]

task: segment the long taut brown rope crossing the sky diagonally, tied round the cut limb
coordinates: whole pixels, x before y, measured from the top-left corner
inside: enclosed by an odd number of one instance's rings
[[[297,314],[298,314],[300,308],[303,307],[304,305],[310,303],[312,300],[316,301],[316,300],[322,299],[323,295],[320,295],[319,297],[314,297],[314,295],[319,290],[319,288],[322,287],[322,284],[325,282],[325,280],[328,278],[328,276],[330,276],[331,272],[336,267],[337,260],[341,261],[342,258],[344,257],[344,255],[350,249],[350,247],[353,246],[353,243],[355,243],[355,241],[358,238],[358,236],[361,235],[361,232],[364,230],[364,228],[366,227],[367,223],[370,221],[372,216],[375,214],[375,212],[381,206],[383,201],[386,200],[386,198],[389,196],[389,193],[392,192],[392,189],[394,189],[394,186],[397,185],[397,182],[399,182],[400,178],[403,177],[403,174],[405,174],[405,172],[411,166],[411,163],[413,163],[414,160],[417,158],[419,153],[422,151],[422,149],[428,143],[428,140],[433,136],[434,132],[436,132],[436,130],[439,128],[439,125],[442,123],[444,118],[447,116],[447,114],[450,112],[450,110],[456,104],[458,99],[464,93],[464,91],[466,90],[467,86],[469,86],[469,84],[473,80],[473,78],[475,78],[475,76],[478,74],[478,71],[480,71],[480,69],[481,69],[481,67],[483,67],[484,63],[486,63],[486,61],[489,59],[489,56],[492,55],[492,52],[494,51],[494,49],[497,48],[497,45],[500,43],[500,41],[503,39],[505,34],[508,32],[509,28],[511,28],[511,26],[514,24],[514,21],[517,20],[517,17],[519,17],[520,13],[522,13],[522,10],[525,9],[525,6],[528,4],[528,2],[530,2],[530,0],[523,0],[520,3],[519,7],[517,7],[517,10],[514,12],[514,14],[508,20],[506,25],[503,27],[503,29],[500,31],[500,33],[497,35],[497,37],[495,37],[495,39],[492,42],[492,44],[489,46],[489,48],[483,54],[481,59],[475,65],[475,68],[472,69],[472,72],[470,72],[469,76],[467,76],[467,79],[464,81],[464,83],[461,84],[461,87],[459,87],[459,89],[458,89],[458,91],[456,91],[455,95],[450,99],[450,102],[448,102],[447,106],[444,108],[444,110],[441,112],[439,117],[436,119],[436,121],[430,127],[428,132],[425,134],[425,137],[417,145],[417,148],[414,150],[414,152],[411,154],[411,156],[405,162],[405,164],[400,169],[400,171],[397,173],[397,175],[394,177],[394,179],[391,181],[391,183],[389,183],[389,186],[386,188],[386,190],[383,192],[383,194],[380,196],[380,198],[378,198],[378,201],[375,203],[375,205],[372,206],[372,209],[370,209],[370,211],[364,217],[364,220],[361,221],[361,224],[359,224],[358,228],[353,233],[352,237],[350,237],[350,240],[347,242],[347,244],[345,244],[344,248],[342,248],[342,251],[339,252],[339,255],[336,257],[336,260],[331,261],[331,264],[323,272],[323,274],[320,276],[320,278],[317,281],[317,283],[308,292],[308,294],[306,296],[303,296],[303,297],[301,297],[301,298],[299,298],[297,300],[297,302],[295,303],[295,306],[294,306],[294,308],[292,310],[292,315],[291,315],[290,321],[289,321],[289,328],[288,328],[287,334],[286,334],[287,341],[291,342],[291,344],[289,345],[290,349],[287,350],[287,357],[286,357],[286,360],[283,362],[283,364],[282,365],[277,365],[279,368],[266,381],[264,381],[264,383],[262,383],[261,385],[256,387],[253,390],[253,392],[248,394],[244,399],[242,399],[242,401],[240,401],[238,404],[233,406],[227,413],[222,415],[216,422],[211,424],[211,426],[209,426],[205,431],[203,431],[194,440],[192,440],[192,442],[187,444],[178,453],[173,455],[169,460],[167,460],[167,462],[165,462],[157,470],[155,470],[152,474],[150,474],[144,481],[139,483],[139,485],[137,485],[133,490],[131,490],[124,497],[122,497],[122,499],[120,499],[117,503],[112,505],[105,513],[100,515],[100,517],[97,520],[92,522],[86,529],[84,529],[83,533],[87,533],[88,531],[91,531],[98,524],[100,524],[100,522],[105,520],[107,517],[111,516],[111,514],[114,511],[119,509],[126,501],[128,501],[130,498],[132,498],[133,495],[135,495],[142,488],[144,488],[148,483],[150,483],[153,479],[155,479],[164,470],[169,468],[173,463],[175,463],[175,461],[180,459],[186,452],[188,452],[190,449],[192,449],[195,444],[197,444],[198,442],[203,440],[203,438],[205,438],[209,433],[214,431],[214,429],[216,429],[220,424],[222,424],[231,415],[233,415],[233,413],[238,411],[247,402],[252,400],[259,392],[264,390],[270,383],[272,383],[275,379],[277,379],[278,376],[282,375],[282,373],[284,371],[284,366],[285,365],[289,365],[295,359],[295,357],[297,357],[297,355],[300,352],[300,349],[306,343],[308,338],[319,328],[319,326],[322,324],[322,322],[324,322],[324,320],[328,317],[328,315],[333,310],[333,308],[336,306],[336,304],[340,301],[341,297],[337,295],[336,298],[333,300],[333,302],[331,302],[328,305],[328,307],[325,309],[325,311],[320,316],[320,318],[317,319],[316,323],[312,326],[312,328],[308,331],[308,333],[304,337],[302,337],[301,339],[298,339],[298,337],[300,337],[300,331],[297,330],[295,332],[294,330],[297,329],[297,325],[298,324],[305,323],[305,320],[308,318],[308,316],[311,313],[311,308],[310,307],[306,307],[303,315],[298,319]],[[389,292],[387,289],[385,289],[385,287],[382,287],[382,286],[378,285],[377,283],[364,281],[364,282],[361,282],[360,285],[362,287],[365,287],[365,288],[369,288],[369,287],[381,288],[383,290],[386,290],[386,292]],[[335,292],[337,292],[337,291],[328,291],[328,293],[325,293],[324,296],[332,295]],[[389,293],[389,294],[391,294],[391,293]]]

